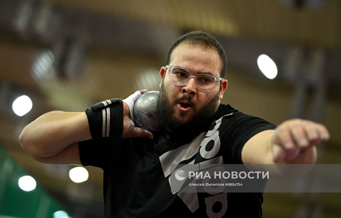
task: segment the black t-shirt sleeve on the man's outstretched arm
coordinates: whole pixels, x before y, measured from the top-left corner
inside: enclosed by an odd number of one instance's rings
[[[240,112],[224,116],[221,129],[223,159],[226,164],[242,164],[241,150],[245,143],[257,133],[273,130],[276,125],[266,120]]]

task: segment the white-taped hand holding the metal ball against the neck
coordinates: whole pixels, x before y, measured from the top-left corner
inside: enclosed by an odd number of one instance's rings
[[[138,97],[147,91],[147,89],[136,91],[134,94],[123,100],[123,138],[149,137],[150,139],[153,139],[154,136],[151,132],[135,127],[135,124],[132,120],[134,102],[138,99]]]

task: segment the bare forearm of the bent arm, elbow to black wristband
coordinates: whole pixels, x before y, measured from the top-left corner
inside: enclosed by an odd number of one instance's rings
[[[19,136],[23,149],[34,157],[50,157],[71,144],[91,139],[84,112],[48,112],[28,124]]]

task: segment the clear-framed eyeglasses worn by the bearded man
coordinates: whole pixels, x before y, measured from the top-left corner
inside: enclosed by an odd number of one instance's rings
[[[190,71],[177,66],[165,66],[169,69],[170,81],[174,84],[182,86],[186,85],[191,77],[194,77],[195,86],[201,91],[211,91],[216,85],[216,81],[223,81],[224,78],[214,77],[207,73],[198,73],[192,75]]]

